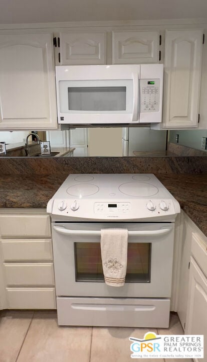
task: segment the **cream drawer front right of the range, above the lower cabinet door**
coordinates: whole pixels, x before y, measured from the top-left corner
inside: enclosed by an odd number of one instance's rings
[[[207,277],[207,245],[196,233],[192,233],[191,253]]]

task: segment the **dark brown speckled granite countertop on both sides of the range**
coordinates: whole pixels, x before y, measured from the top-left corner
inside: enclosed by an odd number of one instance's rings
[[[207,175],[155,174],[207,236]],[[0,208],[46,208],[68,174],[0,177]]]

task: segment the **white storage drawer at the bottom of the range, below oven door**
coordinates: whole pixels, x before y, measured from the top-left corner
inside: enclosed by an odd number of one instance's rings
[[[167,328],[169,309],[169,299],[57,298],[59,325]]]

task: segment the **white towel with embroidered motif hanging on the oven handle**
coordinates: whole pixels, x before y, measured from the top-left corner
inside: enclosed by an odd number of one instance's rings
[[[101,229],[101,258],[105,283],[122,287],[127,268],[127,229]]]

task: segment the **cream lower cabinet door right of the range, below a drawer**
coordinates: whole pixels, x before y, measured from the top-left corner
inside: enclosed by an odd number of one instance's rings
[[[195,260],[190,257],[188,305],[185,334],[203,334],[204,359],[207,358],[207,279]]]

